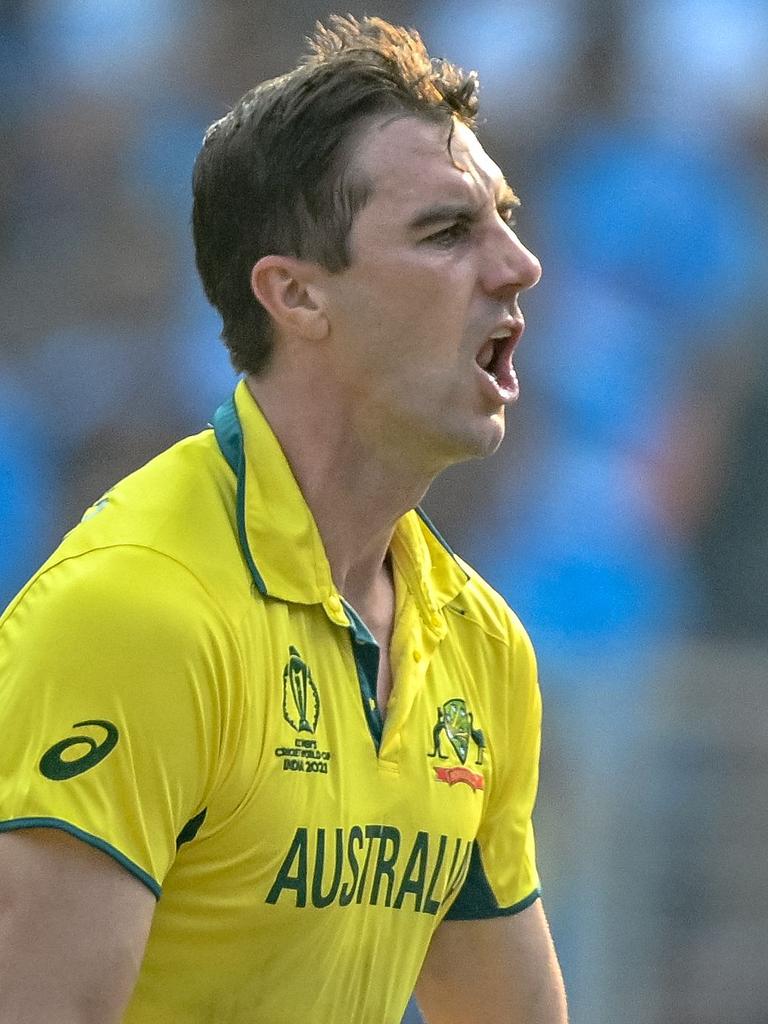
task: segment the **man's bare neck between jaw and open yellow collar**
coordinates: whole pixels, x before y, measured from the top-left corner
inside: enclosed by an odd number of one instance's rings
[[[274,431],[326,549],[334,583],[365,617],[388,580],[397,519],[424,497],[432,475],[409,467],[386,438],[369,437],[318,388],[281,388],[249,377],[248,388]],[[329,396],[330,397],[330,396]]]

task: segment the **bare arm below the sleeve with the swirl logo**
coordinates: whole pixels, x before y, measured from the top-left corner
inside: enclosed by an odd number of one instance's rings
[[[0,835],[0,1024],[118,1024],[155,897],[57,828]]]

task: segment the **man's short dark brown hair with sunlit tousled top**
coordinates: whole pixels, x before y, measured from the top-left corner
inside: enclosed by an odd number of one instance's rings
[[[475,73],[430,58],[413,30],[332,15],[308,43],[294,71],[211,125],[195,164],[198,270],[238,372],[261,372],[272,349],[271,319],[251,289],[262,256],[331,272],[349,265],[349,230],[372,193],[351,159],[366,124],[388,114],[475,123]]]

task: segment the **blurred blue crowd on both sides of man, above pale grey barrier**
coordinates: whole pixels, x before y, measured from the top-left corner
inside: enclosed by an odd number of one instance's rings
[[[191,165],[328,12],[0,5],[0,603],[232,387],[194,267]],[[518,611],[565,705],[631,703],[665,639],[768,637],[768,6],[368,12],[479,70],[480,135],[544,265],[509,439],[437,481],[430,514]]]

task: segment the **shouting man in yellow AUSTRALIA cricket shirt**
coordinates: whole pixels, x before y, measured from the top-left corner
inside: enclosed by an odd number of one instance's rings
[[[2,1024],[565,1020],[530,646],[417,509],[502,440],[540,267],[474,79],[332,26],[196,167],[245,380],[3,620]]]

